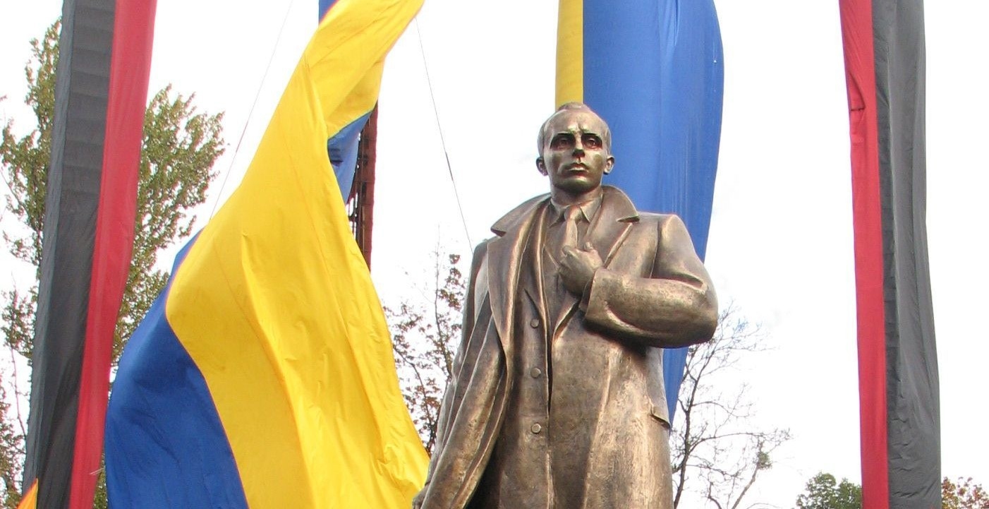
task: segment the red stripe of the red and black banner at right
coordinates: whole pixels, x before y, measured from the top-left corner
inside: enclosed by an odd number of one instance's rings
[[[841,0],[840,6],[852,135],[862,507],[888,509],[886,332],[872,4],[871,0]]]

